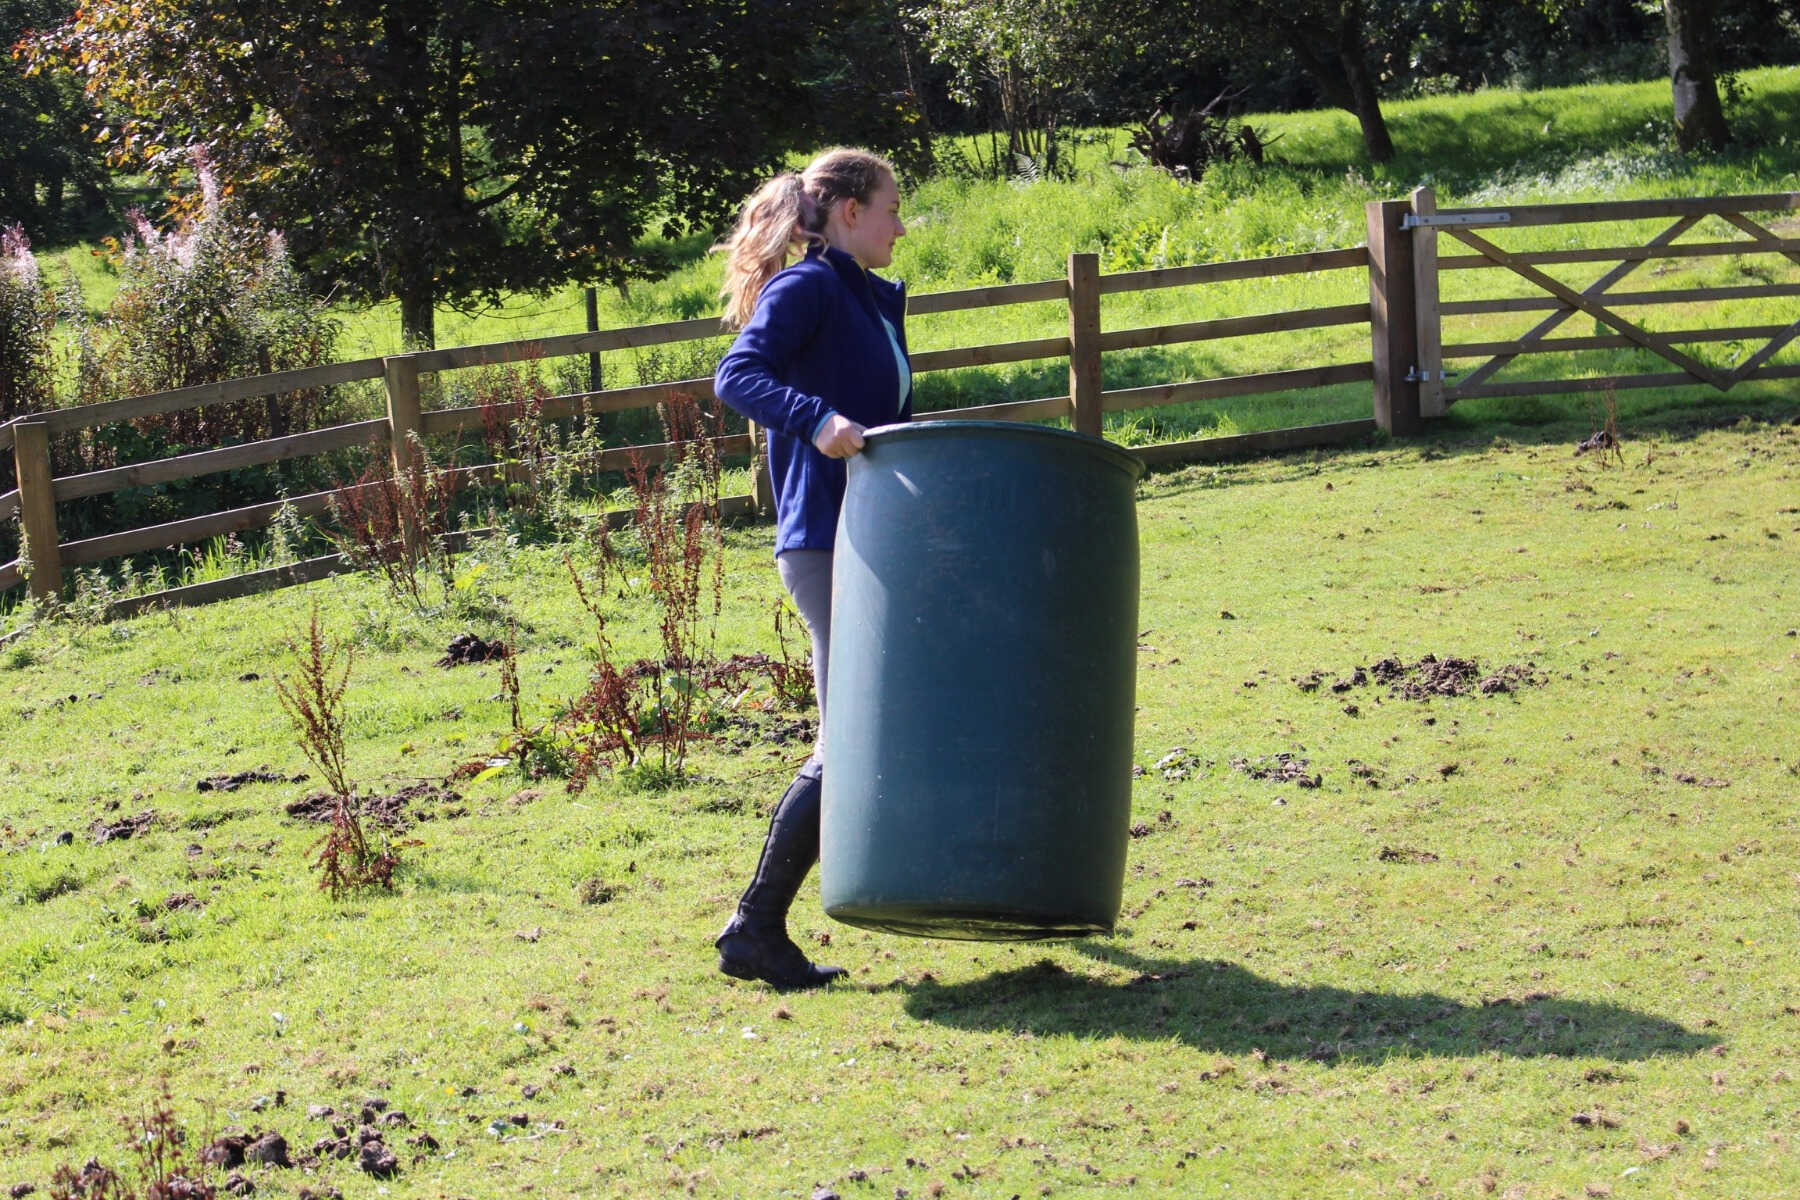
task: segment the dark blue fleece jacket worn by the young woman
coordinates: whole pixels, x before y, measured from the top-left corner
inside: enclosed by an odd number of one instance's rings
[[[868,426],[913,417],[882,317],[904,351],[905,286],[833,246],[812,250],[769,281],[718,363],[718,398],[769,430],[776,554],[830,551],[837,538],[844,461],[812,444],[824,417],[837,412]]]

